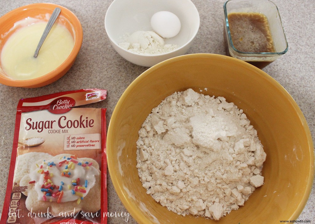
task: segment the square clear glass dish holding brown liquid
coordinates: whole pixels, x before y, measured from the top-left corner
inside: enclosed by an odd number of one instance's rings
[[[224,3],[227,54],[263,68],[288,51],[278,11],[269,0],[228,0]]]

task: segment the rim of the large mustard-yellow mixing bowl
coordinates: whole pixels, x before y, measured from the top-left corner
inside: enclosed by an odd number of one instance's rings
[[[112,168],[112,158],[117,158],[116,156],[114,156],[111,152],[110,149],[110,145],[112,145],[112,138],[110,138],[110,133],[112,133],[112,129],[115,129],[114,127],[114,122],[117,118],[117,111],[120,110],[120,108],[123,106],[123,101],[126,98],[126,95],[135,88],[135,86],[141,82],[142,79],[146,78],[146,76],[149,75],[149,73],[152,70],[156,70],[158,68],[160,68],[161,66],[163,66],[164,64],[169,64],[169,63],[173,63],[176,61],[180,61],[180,60],[185,60],[185,59],[189,59],[189,58],[198,58],[198,57],[209,57],[212,60],[215,58],[224,58],[226,60],[234,60],[237,61],[237,63],[239,64],[243,64],[243,66],[249,66],[252,67],[252,69],[256,70],[256,72],[258,72],[264,79],[266,79],[269,83],[271,83],[272,85],[275,86],[275,88],[277,88],[282,94],[287,96],[288,101],[292,104],[292,106],[294,107],[298,117],[300,118],[300,121],[302,123],[302,126],[304,127],[305,133],[306,133],[306,137],[307,137],[307,142],[309,147],[309,150],[312,151],[311,153],[311,164],[310,166],[313,167],[313,169],[311,169],[311,172],[309,174],[309,178],[307,180],[307,186],[306,186],[306,191],[304,192],[304,195],[300,201],[300,203],[297,205],[297,209],[295,210],[295,212],[291,215],[290,220],[296,220],[299,215],[301,214],[302,210],[304,209],[306,202],[309,198],[309,195],[311,193],[312,190],[312,185],[313,185],[313,181],[314,181],[314,174],[315,174],[315,162],[314,162],[314,145],[313,145],[313,141],[312,141],[312,135],[309,129],[309,126],[307,125],[306,119],[301,111],[301,109],[299,108],[299,106],[297,105],[297,103],[294,101],[294,99],[292,98],[292,96],[287,92],[286,89],[284,89],[284,87],[278,83],[274,78],[272,78],[270,75],[268,75],[266,72],[262,71],[261,69],[250,65],[249,63],[230,57],[230,56],[226,56],[226,55],[217,55],[217,54],[208,54],[208,53],[196,53],[196,54],[188,54],[188,55],[180,55],[168,60],[164,60],[150,68],[148,68],[146,71],[144,71],[143,73],[141,73],[137,78],[135,78],[135,80],[129,84],[129,86],[124,90],[123,94],[120,96],[119,100],[117,101],[117,104],[112,112],[112,116],[108,125],[108,131],[107,131],[107,136],[106,136],[106,159],[107,159],[107,167],[108,167],[108,171],[110,174],[110,178],[112,180],[112,184],[115,188],[115,191],[118,195],[118,197],[120,198],[121,202],[123,203],[123,205],[125,206],[125,208],[127,209],[127,211],[130,213],[130,215],[132,215],[132,217],[139,223],[143,223],[143,221],[146,221],[145,223],[147,223],[149,220],[146,219],[146,217],[139,212],[138,208],[135,208],[130,201],[125,197],[125,194],[123,193],[124,189],[123,186],[119,184],[118,178],[116,177],[116,172],[117,170],[115,170],[114,168]]]

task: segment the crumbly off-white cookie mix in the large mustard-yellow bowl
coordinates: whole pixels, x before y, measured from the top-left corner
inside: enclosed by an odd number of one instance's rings
[[[266,153],[242,109],[224,97],[175,92],[146,118],[137,169],[146,193],[180,215],[219,220],[256,187]]]

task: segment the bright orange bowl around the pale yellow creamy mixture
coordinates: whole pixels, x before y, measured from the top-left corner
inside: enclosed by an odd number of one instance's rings
[[[56,4],[34,3],[19,7],[3,15],[0,18],[0,52],[10,35],[13,34],[18,28],[20,28],[19,25],[14,25],[16,24],[16,22],[24,20],[27,17],[36,17],[40,18],[43,21],[48,21],[49,18],[47,18],[46,14],[51,15],[56,7],[59,7],[61,9],[61,13],[57,18],[56,23],[58,22],[65,26],[74,39],[74,47],[68,58],[53,71],[41,77],[29,80],[14,80],[9,78],[5,74],[5,72],[3,72],[0,61],[0,83],[14,87],[41,87],[58,80],[71,68],[82,45],[82,26],[75,14],[73,14],[69,9],[66,9],[65,7]]]

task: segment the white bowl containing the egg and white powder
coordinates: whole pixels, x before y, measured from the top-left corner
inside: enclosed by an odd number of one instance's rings
[[[159,55],[141,55],[123,49],[118,44],[126,33],[152,31],[151,17],[158,11],[170,11],[181,22],[179,34],[165,38],[165,44],[178,48]],[[140,66],[151,67],[163,60],[184,55],[191,47],[200,25],[196,6],[190,0],[114,0],[105,15],[105,29],[112,46],[124,59]]]

